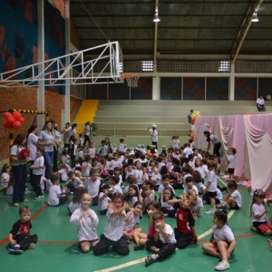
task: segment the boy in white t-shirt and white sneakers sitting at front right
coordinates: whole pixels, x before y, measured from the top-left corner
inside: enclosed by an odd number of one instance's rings
[[[228,259],[236,247],[231,228],[227,224],[228,216],[225,211],[217,210],[214,213],[212,222],[215,226],[212,228],[213,233],[209,239],[209,243],[205,243],[202,248],[205,253],[221,258],[216,270],[223,271],[229,268]]]

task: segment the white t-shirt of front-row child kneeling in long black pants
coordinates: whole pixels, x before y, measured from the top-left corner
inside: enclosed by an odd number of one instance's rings
[[[104,235],[112,241],[118,241],[122,237],[123,232],[123,219],[125,218],[125,211],[121,215],[112,215],[113,209],[107,211],[107,222],[105,226]]]

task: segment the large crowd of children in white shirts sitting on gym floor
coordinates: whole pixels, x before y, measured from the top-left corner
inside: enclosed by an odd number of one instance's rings
[[[173,144],[177,145],[177,140],[175,137]],[[189,143],[183,148],[170,147],[168,151],[164,149],[161,154],[154,148],[148,148],[147,151],[136,149],[133,152],[123,149],[121,152],[114,152],[112,160],[109,160],[110,150],[111,145],[109,142],[107,145],[107,141],[102,141],[100,151],[94,155],[92,152],[92,157],[88,148],[83,148],[73,165],[68,163],[69,158],[64,154],[62,169],[52,172],[50,180],[46,180],[49,206],[67,203],[68,195],[73,195],[73,200],[68,204],[70,222],[77,228],[83,252],[89,252],[93,248],[93,254],[99,256],[112,248],[112,251],[120,255],[128,255],[128,242],[133,240],[134,250],[147,248],[152,252],[151,256],[145,258],[145,265],[148,267],[157,260],[169,257],[176,248],[186,248],[189,244],[198,242],[195,219],[199,218],[203,202],[206,202],[210,205],[206,214],[213,215],[214,227],[209,243],[205,243],[202,248],[207,254],[219,257],[216,270],[228,269],[228,258],[236,246],[236,240],[227,224],[226,208],[242,208],[238,185],[232,180],[235,149],[228,154],[231,161],[228,167],[230,181],[225,199],[217,181],[219,158],[198,151]],[[42,151],[37,150],[37,158],[42,156]],[[34,162],[33,165],[33,170],[44,170],[42,163]],[[2,173],[5,183],[5,173],[8,171],[10,170]],[[38,174],[40,175],[40,171]],[[36,198],[39,199],[43,195],[40,180],[32,185]],[[177,196],[175,189],[183,189],[182,194]],[[100,238],[96,232],[99,217],[90,208],[91,205],[98,206],[100,216],[106,216],[105,228]],[[251,228],[271,236],[272,227],[267,223],[267,211],[264,193],[256,190],[251,205]],[[20,220],[10,232],[9,250],[13,253],[34,248],[37,240],[29,232],[30,209],[23,207],[19,213]],[[141,218],[146,215],[149,218],[147,233],[137,228]],[[173,229],[167,223],[167,217],[176,219],[176,228]],[[27,228],[21,233],[22,224],[26,224]],[[22,241],[21,236],[27,237],[28,243],[25,243],[25,239]]]

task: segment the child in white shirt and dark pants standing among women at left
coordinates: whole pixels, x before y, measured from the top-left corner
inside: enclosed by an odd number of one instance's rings
[[[34,164],[30,166],[30,169],[33,170],[31,175],[31,184],[33,186],[34,192],[36,194],[34,199],[43,199],[44,194],[41,189],[41,178],[44,173],[44,150],[39,146],[36,148],[36,159],[34,160]]]

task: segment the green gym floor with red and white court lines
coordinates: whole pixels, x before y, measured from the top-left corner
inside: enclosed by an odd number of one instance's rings
[[[221,185],[224,180],[219,178]],[[251,196],[246,187],[239,186],[243,197],[243,209],[228,213],[228,225],[232,228],[237,238],[237,248],[229,260],[230,271],[271,271],[272,248],[267,245],[267,237],[258,235],[249,229],[249,206]],[[33,199],[34,194],[28,193],[27,205],[32,209],[32,233],[38,235],[36,248],[26,250],[22,255],[13,255],[8,251],[8,233],[12,225],[18,219],[18,209],[11,206],[11,197],[0,195],[0,258],[1,271],[214,271],[218,264],[216,257],[210,257],[202,253],[202,244],[210,238],[212,216],[205,215],[209,209],[204,205],[201,216],[196,220],[196,229],[199,235],[199,243],[190,245],[164,261],[158,261],[150,267],[144,267],[144,257],[150,253],[146,250],[133,251],[122,257],[115,253],[108,253],[102,257],[83,254],[77,245],[76,230],[70,224],[67,214],[67,205],[61,207],[47,207],[44,199]],[[22,204],[21,204],[22,205]],[[92,207],[97,211],[96,207]],[[272,211],[269,211],[272,216]],[[172,227],[175,227],[175,219],[166,219]],[[100,216],[97,228],[99,235],[103,231],[105,216]],[[141,219],[140,227],[147,230],[147,216]]]

